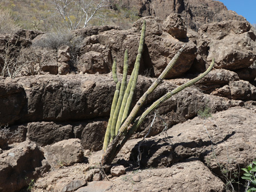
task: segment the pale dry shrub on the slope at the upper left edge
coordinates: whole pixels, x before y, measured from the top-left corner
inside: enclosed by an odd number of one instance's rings
[[[20,27],[19,25],[15,24],[10,11],[0,8],[0,33],[11,34],[19,29]]]

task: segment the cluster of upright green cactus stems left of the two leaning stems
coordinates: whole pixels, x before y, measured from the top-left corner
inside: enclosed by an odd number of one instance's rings
[[[138,79],[138,71],[140,69],[140,60],[142,56],[143,46],[145,42],[145,28],[146,21],[143,22],[140,45],[138,47],[138,54],[136,58],[136,62],[134,64],[134,68],[132,71],[131,78],[129,83],[127,84],[127,69],[128,69],[128,50],[125,50],[124,54],[124,68],[123,68],[123,80],[120,88],[120,82],[118,81],[118,77],[116,75],[116,59],[114,59],[114,63],[112,65],[112,77],[114,81],[117,83],[116,91],[114,95],[114,99],[111,106],[110,119],[107,124],[107,130],[105,133],[103,150],[106,151],[109,142],[115,138],[116,134],[118,134],[120,125],[123,120],[128,116],[129,108],[131,106],[132,97],[134,93],[134,89],[137,84]],[[120,90],[119,90],[120,88]]]

